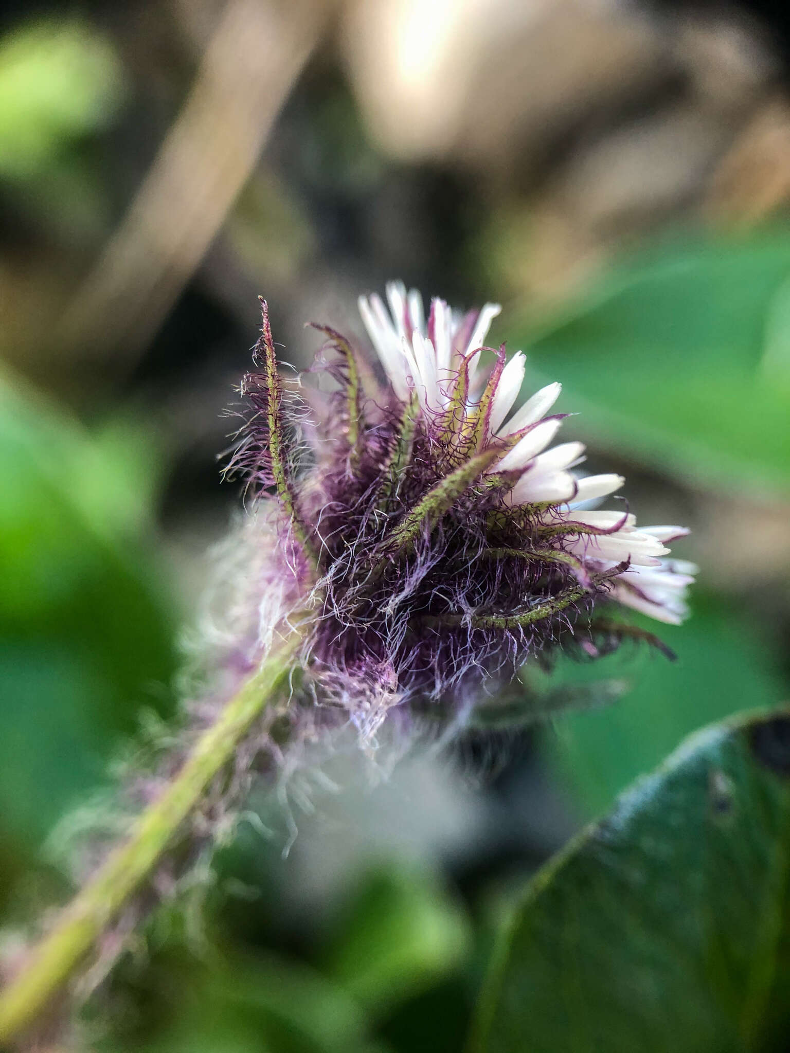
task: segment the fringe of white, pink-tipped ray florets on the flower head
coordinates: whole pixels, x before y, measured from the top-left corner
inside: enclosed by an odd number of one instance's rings
[[[453,396],[466,359],[470,390],[476,391],[469,397],[467,410],[475,412],[475,398],[480,398],[474,384],[479,350],[501,310],[499,304],[487,303],[476,317],[465,317],[451,311],[443,300],[434,299],[426,318],[422,297],[416,290],[407,292],[402,282],[388,284],[387,300],[390,312],[376,294],[362,296],[359,312],[397,398],[407,401],[415,392],[423,413],[440,412]],[[614,579],[613,598],[660,621],[679,623],[688,613],[685,595],[696,568],[666,559],[666,542],[684,537],[688,531],[665,525],[637,530],[631,514],[578,508],[615,493],[625,479],[615,474],[574,476],[571,470],[584,459],[580,442],[547,450],[561,423],[559,417],[546,417],[559,397],[559,383],[541,388],[507,419],[518,398],[526,364],[521,352],[510,358],[489,408],[487,441],[505,448],[490,471],[520,472],[507,502],[550,504],[554,506],[552,521],[565,520],[569,529],[576,524],[596,531],[571,534],[566,551],[591,569],[611,570],[627,562],[628,570]]]

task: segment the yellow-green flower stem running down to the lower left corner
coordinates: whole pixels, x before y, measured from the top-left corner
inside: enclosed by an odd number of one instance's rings
[[[0,1046],[34,1024],[91,951],[102,931],[147,878],[212,779],[287,679],[302,636],[291,630],[195,743],[179,773],[138,818],[66,907],[53,930],[0,993]]]

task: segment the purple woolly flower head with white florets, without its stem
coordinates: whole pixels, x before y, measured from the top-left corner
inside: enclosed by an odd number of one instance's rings
[[[579,442],[550,446],[558,383],[513,412],[525,356],[485,347],[499,306],[461,315],[433,299],[426,314],[400,282],[387,298],[389,310],[376,294],[359,299],[383,384],[344,337],[316,326],[328,337],[317,369],[337,390],[289,393],[312,406],[292,421],[302,456],[288,453],[265,304],[262,370],[241,388],[254,412],[233,465],[259,503],[279,495],[279,558],[293,603],[312,611],[302,665],[314,695],[371,732],[396,704],[470,704],[530,658],[611,647],[628,633],[610,616],[617,604],[679,622],[695,569],[666,559],[666,542],[687,531],[588,510],[625,480],[575,472]]]

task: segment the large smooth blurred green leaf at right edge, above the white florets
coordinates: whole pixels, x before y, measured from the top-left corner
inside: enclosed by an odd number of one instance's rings
[[[787,490],[788,276],[786,231],[655,249],[518,335],[530,386],[562,381],[588,434],[664,472]]]

